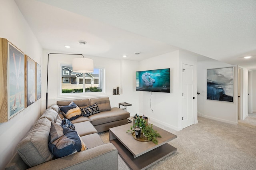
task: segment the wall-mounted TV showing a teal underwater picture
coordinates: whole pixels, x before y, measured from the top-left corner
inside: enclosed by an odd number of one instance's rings
[[[170,93],[170,69],[136,71],[136,91]]]

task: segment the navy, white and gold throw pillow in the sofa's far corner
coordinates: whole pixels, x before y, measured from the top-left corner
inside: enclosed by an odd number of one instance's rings
[[[72,101],[68,106],[61,106],[62,114],[70,121],[82,116],[80,108]]]

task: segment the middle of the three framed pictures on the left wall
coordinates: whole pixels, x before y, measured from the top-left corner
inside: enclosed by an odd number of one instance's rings
[[[30,57],[26,56],[26,70],[27,70],[27,106],[32,105],[36,101],[36,62]]]

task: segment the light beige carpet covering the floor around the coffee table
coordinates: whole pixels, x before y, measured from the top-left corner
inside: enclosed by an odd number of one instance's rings
[[[178,137],[169,142],[177,151],[148,170],[256,169],[256,126],[230,125],[198,117],[198,124],[177,132],[155,122],[150,123]],[[109,142],[108,131],[100,133],[100,136],[104,143]],[[118,169],[129,170],[119,155]]]

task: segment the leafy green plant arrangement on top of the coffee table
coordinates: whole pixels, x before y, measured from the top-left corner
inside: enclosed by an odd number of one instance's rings
[[[161,135],[153,129],[153,124],[148,125],[148,117],[142,115],[139,116],[138,114],[134,115],[133,117],[133,126],[131,127],[131,130],[127,130],[126,132],[130,132],[133,134],[135,131],[135,128],[140,128],[143,135],[148,139],[148,141],[152,141],[154,144],[158,144],[157,137],[161,137]],[[137,139],[136,139],[137,140]],[[139,141],[145,141],[145,140],[139,140]]]

